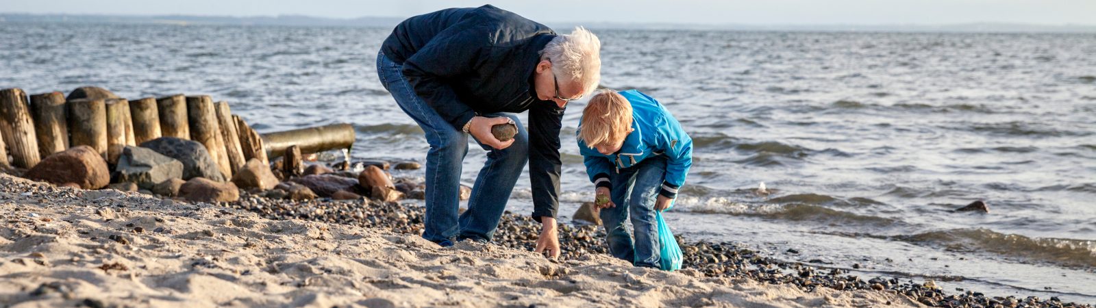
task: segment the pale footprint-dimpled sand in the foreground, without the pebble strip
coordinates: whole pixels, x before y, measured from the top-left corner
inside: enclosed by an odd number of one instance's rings
[[[707,278],[0,174],[0,306],[880,307],[886,292]],[[139,231],[138,231],[139,230]]]

